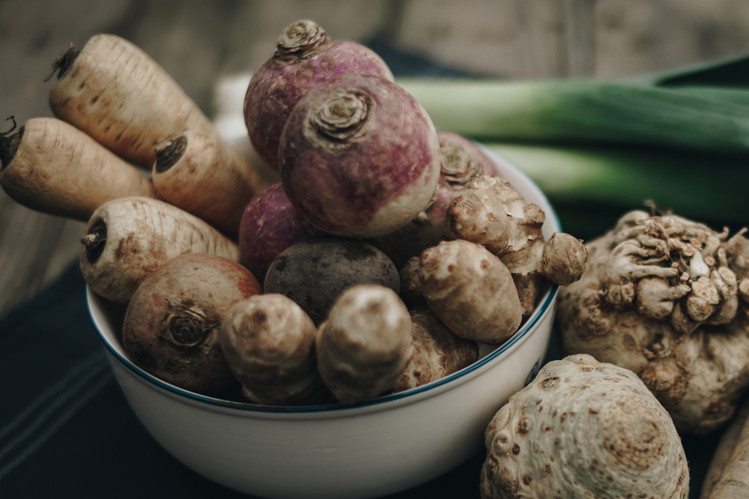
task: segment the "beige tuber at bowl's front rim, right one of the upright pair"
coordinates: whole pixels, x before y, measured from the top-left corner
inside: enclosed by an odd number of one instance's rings
[[[315,341],[320,376],[343,404],[392,390],[411,354],[411,317],[392,289],[358,284],[335,301]]]

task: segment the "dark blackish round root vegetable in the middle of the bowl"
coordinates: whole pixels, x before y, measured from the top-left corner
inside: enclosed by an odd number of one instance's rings
[[[320,324],[338,296],[355,284],[380,284],[397,293],[400,276],[374,246],[331,237],[299,242],[279,254],[265,276],[264,292],[288,296]]]

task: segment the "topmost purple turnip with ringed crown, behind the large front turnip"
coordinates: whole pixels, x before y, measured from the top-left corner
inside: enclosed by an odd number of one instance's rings
[[[296,21],[284,29],[273,56],[253,74],[244,101],[250,140],[271,168],[278,170],[281,130],[299,99],[318,83],[344,73],[393,80],[375,52],[356,42],[333,40],[313,21]]]

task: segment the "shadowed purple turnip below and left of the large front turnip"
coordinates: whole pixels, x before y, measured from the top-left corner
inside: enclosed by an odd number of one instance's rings
[[[263,282],[279,253],[318,235],[291,205],[281,182],[257,193],[244,209],[239,223],[239,263]]]

